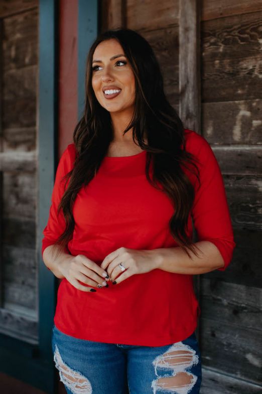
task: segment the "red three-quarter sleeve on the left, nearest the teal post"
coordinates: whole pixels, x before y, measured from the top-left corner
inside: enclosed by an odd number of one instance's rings
[[[49,209],[49,218],[47,225],[43,230],[44,238],[42,239],[42,256],[44,250],[55,243],[66,227],[62,210],[60,210],[59,214],[57,212],[61,198],[68,186],[68,183],[66,183],[66,180],[63,180],[63,177],[72,170],[73,162],[74,144],[69,144],[62,153],[56,170],[55,183],[51,196],[51,206]]]

